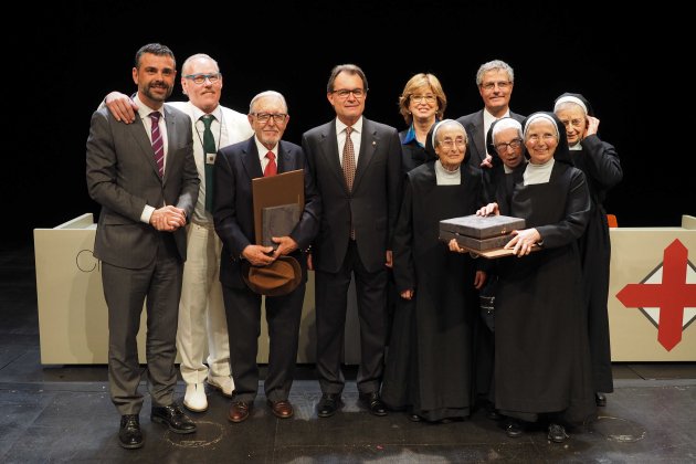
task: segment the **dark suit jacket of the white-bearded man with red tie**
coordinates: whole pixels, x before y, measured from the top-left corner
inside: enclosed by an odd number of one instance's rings
[[[244,288],[240,256],[247,245],[255,243],[254,200],[252,179],[263,177],[255,136],[221,148],[215,158],[215,200],[213,220],[222,240],[220,282],[233,288]],[[304,250],[309,247],[319,229],[321,201],[307,167],[302,148],[289,141],[278,143],[277,172],[305,169],[305,209],[299,223],[289,236],[299,250],[293,253],[307,278]]]

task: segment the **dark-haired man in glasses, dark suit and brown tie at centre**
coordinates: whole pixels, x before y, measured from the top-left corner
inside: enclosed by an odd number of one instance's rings
[[[380,398],[387,338],[387,268],[401,201],[401,144],[393,127],[362,117],[368,84],[354,64],[334,67],[327,98],[336,119],[308,130],[302,146],[321,197],[310,255],[316,271],[317,372],[320,418],[341,405],[346,305],[355,276],[360,318],[360,400],[387,414]]]

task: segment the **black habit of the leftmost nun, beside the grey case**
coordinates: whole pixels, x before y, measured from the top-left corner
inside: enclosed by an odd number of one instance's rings
[[[394,278],[401,299],[394,315],[382,386],[391,409],[429,421],[466,418],[472,405],[472,324],[478,317],[475,265],[439,240],[443,219],[482,205],[481,175],[462,166],[458,186],[437,186],[434,161],[407,176],[394,234]]]

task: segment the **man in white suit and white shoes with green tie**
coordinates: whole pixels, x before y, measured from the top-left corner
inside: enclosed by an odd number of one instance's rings
[[[169,102],[191,117],[193,156],[201,180],[198,202],[187,225],[187,262],[183,265],[177,348],[181,377],[186,382],[184,408],[193,412],[208,409],[203,382],[232,397],[230,341],[220,284],[220,251],[212,219],[212,173],[219,148],[246,140],[254,131],[246,115],[220,105],[222,73],[218,62],[203,53],[189,56],[181,66],[181,87],[188,102]],[[138,107],[128,95],[112,92],[104,99],[114,116],[130,124]],[[212,147],[205,146],[205,123],[210,118]],[[208,150],[207,150],[208,148]],[[207,152],[210,151],[210,152]],[[211,172],[213,171],[213,172]],[[209,184],[210,182],[210,184]],[[205,357],[208,352],[208,357]]]

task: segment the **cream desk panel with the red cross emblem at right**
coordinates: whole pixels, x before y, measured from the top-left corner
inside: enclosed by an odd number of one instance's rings
[[[696,218],[610,236],[612,361],[696,360]]]

